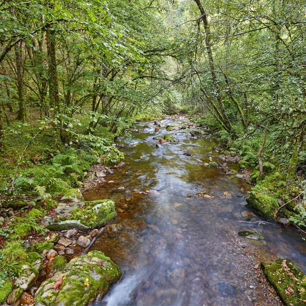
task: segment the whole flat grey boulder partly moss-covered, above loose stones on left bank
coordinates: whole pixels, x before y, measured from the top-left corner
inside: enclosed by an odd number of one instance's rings
[[[49,230],[91,230],[104,226],[116,218],[115,202],[112,200],[87,201],[69,211],[69,217],[57,218]]]

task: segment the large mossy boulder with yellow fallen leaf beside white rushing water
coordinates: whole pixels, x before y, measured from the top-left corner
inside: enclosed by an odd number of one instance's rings
[[[100,251],[73,258],[35,293],[35,305],[88,305],[121,277],[119,267]]]

